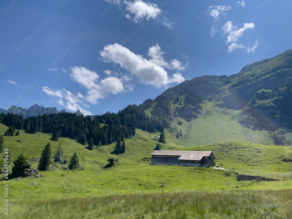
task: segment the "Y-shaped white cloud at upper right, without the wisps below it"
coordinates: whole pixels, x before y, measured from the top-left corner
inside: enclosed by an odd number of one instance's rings
[[[229,43],[236,42],[243,35],[244,31],[248,29],[253,29],[254,27],[254,23],[245,23],[242,28],[237,29],[237,26],[233,26],[232,22],[228,21],[227,23],[225,23],[222,29],[225,34],[228,34],[227,43]]]

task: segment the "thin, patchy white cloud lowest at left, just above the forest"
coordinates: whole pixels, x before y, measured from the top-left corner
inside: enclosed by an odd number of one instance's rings
[[[84,96],[81,93],[72,93],[67,91],[65,88],[54,90],[52,88],[48,88],[47,86],[43,86],[42,89],[48,96],[57,98],[55,99],[55,102],[57,102],[60,106],[65,106],[69,111],[76,112],[79,109],[85,116],[92,115],[91,112],[80,106],[82,104],[84,105]],[[85,106],[88,107],[86,104]]]

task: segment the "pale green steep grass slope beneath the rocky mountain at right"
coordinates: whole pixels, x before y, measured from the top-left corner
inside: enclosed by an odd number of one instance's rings
[[[220,109],[215,107],[215,103],[205,100],[201,107],[202,114],[197,119],[188,123],[175,118],[171,127],[167,128],[173,137],[181,130],[179,140],[186,147],[230,141],[272,143],[268,131],[253,131],[239,124],[241,110]],[[179,121],[182,122],[181,126],[178,125]]]

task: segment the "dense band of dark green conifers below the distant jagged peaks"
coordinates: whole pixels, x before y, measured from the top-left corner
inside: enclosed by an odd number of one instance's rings
[[[153,100],[148,99],[141,105],[128,105],[118,113],[105,113],[84,117],[74,113],[44,114],[24,119],[13,113],[1,113],[0,123],[15,129],[23,129],[26,133],[37,132],[52,134],[53,140],[60,137],[72,138],[82,145],[93,139],[94,145],[108,145],[118,139],[123,141],[135,135],[135,129],[140,128],[150,133],[164,131],[163,118],[145,116],[145,109],[151,106]],[[93,119],[92,119],[93,118]],[[104,124],[104,125],[103,125]],[[167,126],[167,123],[165,124]]]

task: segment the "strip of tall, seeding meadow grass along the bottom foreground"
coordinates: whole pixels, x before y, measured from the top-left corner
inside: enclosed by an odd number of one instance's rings
[[[10,200],[7,218],[291,218],[292,190]]]

